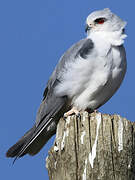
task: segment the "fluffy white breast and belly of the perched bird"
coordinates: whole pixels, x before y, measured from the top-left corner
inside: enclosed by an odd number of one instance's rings
[[[102,44],[103,43],[103,44]],[[95,43],[93,52],[87,59],[78,58],[67,64],[68,72],[57,93],[68,95],[72,105],[80,110],[96,109],[112,97],[119,88],[125,72],[124,48]]]

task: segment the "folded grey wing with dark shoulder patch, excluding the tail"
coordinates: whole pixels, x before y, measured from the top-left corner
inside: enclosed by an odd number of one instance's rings
[[[91,39],[82,39],[76,44],[74,44],[69,50],[66,51],[66,53],[61,57],[59,63],[57,64],[54,72],[52,73],[46,89],[43,94],[43,101],[39,108],[36,124],[38,125],[46,115],[52,112],[54,110],[54,103],[55,98],[63,98],[63,97],[57,97],[55,95],[55,87],[61,83],[63,72],[66,73],[66,63],[69,61],[77,61],[77,59],[82,57],[83,59],[87,58],[87,55],[92,51],[93,49],[93,42]],[[68,95],[67,95],[68,99]],[[65,100],[65,97],[64,97]],[[61,100],[60,100],[61,101]],[[55,105],[56,107],[56,105]],[[52,113],[51,113],[52,114]]]

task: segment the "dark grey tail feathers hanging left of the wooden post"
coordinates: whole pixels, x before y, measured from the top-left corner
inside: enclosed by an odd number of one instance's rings
[[[52,119],[48,120],[45,125],[41,123],[41,127],[40,125],[38,127],[35,125],[7,151],[6,156],[15,157],[14,162],[27,153],[33,156],[40,151],[55,133],[56,121]]]

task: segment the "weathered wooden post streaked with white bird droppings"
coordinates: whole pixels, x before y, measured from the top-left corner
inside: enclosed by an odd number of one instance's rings
[[[50,180],[135,180],[135,124],[87,112],[60,119],[46,167]]]

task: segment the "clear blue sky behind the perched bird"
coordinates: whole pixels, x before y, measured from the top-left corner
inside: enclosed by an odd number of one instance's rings
[[[128,22],[128,71],[119,91],[100,111],[134,121],[134,1],[0,1],[0,179],[48,179],[45,158],[54,139],[38,155],[25,156],[14,166],[5,152],[33,125],[57,61],[67,48],[85,37],[87,15],[106,7]]]

